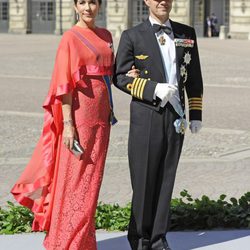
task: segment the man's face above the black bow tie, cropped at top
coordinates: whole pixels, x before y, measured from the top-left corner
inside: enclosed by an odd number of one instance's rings
[[[151,16],[160,20],[168,19],[173,0],[144,0],[144,2],[149,7]]]

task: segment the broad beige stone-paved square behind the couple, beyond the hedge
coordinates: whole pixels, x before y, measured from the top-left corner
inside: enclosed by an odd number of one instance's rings
[[[41,133],[41,105],[48,91],[54,35],[0,34],[0,205],[27,164]],[[118,41],[115,41],[117,46]],[[186,133],[173,196],[217,198],[250,191],[250,41],[199,39],[204,77],[203,129]],[[114,89],[118,125],[111,133],[100,200],[131,198],[127,161],[130,97]]]

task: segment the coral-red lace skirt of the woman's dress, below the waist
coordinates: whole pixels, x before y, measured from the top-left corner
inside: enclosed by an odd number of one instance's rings
[[[102,78],[79,82],[73,113],[80,144],[78,160],[61,145],[51,225],[44,241],[48,250],[95,250],[94,215],[109,142],[109,101]]]

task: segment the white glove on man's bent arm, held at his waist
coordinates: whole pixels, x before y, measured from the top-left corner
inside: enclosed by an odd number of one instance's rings
[[[178,91],[177,87],[172,84],[158,83],[155,87],[154,96],[159,97],[161,99],[161,107],[165,107],[176,91]]]

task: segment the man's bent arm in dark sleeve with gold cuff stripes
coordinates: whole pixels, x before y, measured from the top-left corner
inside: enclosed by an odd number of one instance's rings
[[[133,78],[126,76],[133,65],[136,67],[135,55],[134,43],[128,32],[124,31],[121,35],[116,55],[114,84],[134,98],[152,103],[154,101],[153,96],[157,82],[140,77]]]

